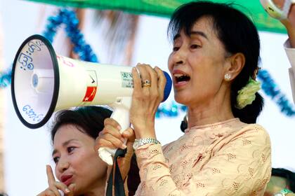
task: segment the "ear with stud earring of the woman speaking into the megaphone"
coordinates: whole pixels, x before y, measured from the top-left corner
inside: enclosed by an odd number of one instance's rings
[[[235,55],[228,57],[228,64],[225,66],[224,74],[230,74],[229,80],[235,79],[242,71],[245,62],[245,56],[241,52],[237,52]]]

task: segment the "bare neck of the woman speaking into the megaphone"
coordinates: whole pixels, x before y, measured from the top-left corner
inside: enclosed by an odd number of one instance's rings
[[[188,106],[188,127],[218,123],[235,118],[230,106],[230,92],[216,95],[205,104]]]

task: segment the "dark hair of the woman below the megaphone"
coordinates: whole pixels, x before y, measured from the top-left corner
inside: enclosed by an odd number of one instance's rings
[[[112,111],[101,106],[84,106],[59,111],[55,115],[51,128],[51,141],[53,143],[58,128],[68,124],[77,125],[84,130],[85,134],[96,139],[99,132],[103,130],[105,118],[110,118],[111,114]]]

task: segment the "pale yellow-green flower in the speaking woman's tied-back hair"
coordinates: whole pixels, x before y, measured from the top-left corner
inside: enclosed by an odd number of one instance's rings
[[[260,82],[249,78],[247,85],[237,92],[237,109],[243,109],[255,100],[255,93],[261,89]]]

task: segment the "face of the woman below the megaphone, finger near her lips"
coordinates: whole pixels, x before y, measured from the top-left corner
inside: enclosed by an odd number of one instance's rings
[[[69,186],[75,184],[75,194],[84,194],[105,181],[107,166],[94,151],[95,140],[76,125],[62,125],[53,141],[55,175]]]

